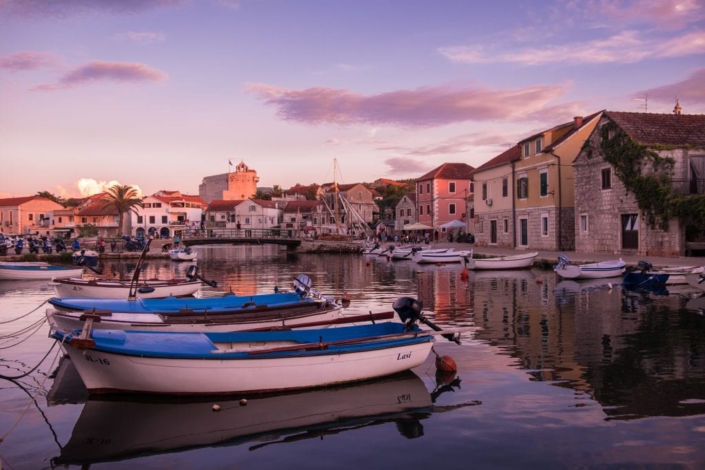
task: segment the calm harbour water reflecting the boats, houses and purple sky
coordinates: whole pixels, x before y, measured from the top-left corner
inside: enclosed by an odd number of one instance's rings
[[[237,294],[288,289],[308,273],[319,292],[348,292],[348,311],[418,297],[435,323],[472,328],[462,345],[434,346],[458,373],[436,378],[431,354],[410,374],[248,397],[246,407],[241,397],[86,400],[38,323],[53,291],[43,281],[0,281],[0,374],[27,373],[48,352],[27,376],[0,380],[3,469],[705,468],[705,299],[697,294],[560,282],[552,271],[465,279],[459,265],[275,247],[199,251],[202,274]],[[133,268],[110,264],[105,273]],[[149,261],[147,274],[185,269]]]

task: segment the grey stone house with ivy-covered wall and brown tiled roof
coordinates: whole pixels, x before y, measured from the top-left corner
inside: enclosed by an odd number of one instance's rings
[[[674,111],[601,114],[575,159],[575,251],[682,256],[687,242],[703,240],[701,228],[686,219],[704,201],[705,116],[680,114],[678,104]],[[630,182],[649,175],[661,182],[642,179],[651,190],[639,202]],[[649,193],[659,194],[655,205]],[[685,209],[681,218],[671,216],[674,202]],[[654,213],[666,218],[649,223]]]

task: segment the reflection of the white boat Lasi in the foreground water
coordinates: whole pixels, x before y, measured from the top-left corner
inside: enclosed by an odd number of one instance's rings
[[[214,403],[220,407],[214,412]],[[91,464],[195,447],[287,443],[364,426],[396,423],[407,438],[423,434],[431,395],[415,373],[345,387],[247,400],[210,398],[88,400],[54,464]],[[99,443],[99,445],[97,445]]]

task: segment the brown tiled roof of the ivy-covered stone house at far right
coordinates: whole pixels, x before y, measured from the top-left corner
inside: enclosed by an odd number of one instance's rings
[[[705,146],[704,114],[623,113],[605,111],[608,118],[636,142],[647,146]]]

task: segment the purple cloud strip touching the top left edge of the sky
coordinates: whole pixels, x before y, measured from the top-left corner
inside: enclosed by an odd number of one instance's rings
[[[20,18],[66,18],[87,13],[132,15],[152,8],[176,6],[185,0],[2,0],[0,16]]]

